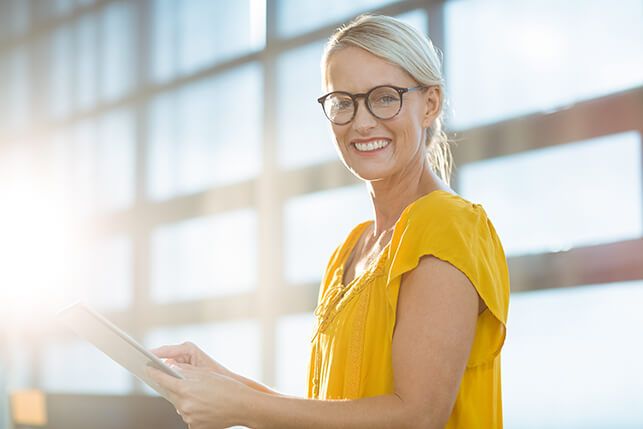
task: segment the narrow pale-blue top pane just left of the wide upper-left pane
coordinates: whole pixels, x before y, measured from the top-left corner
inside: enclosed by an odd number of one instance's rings
[[[136,39],[132,5],[111,3],[101,18],[101,95],[111,101],[124,96],[134,84]]]

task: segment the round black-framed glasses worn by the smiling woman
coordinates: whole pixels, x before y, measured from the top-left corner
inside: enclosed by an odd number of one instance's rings
[[[362,94],[351,94],[346,91],[333,91],[317,99],[322,105],[324,114],[333,124],[346,125],[357,113],[357,99],[364,97],[366,108],[378,119],[391,119],[402,110],[403,95],[407,92],[424,89],[419,85],[412,88],[399,88],[392,85],[380,85]]]

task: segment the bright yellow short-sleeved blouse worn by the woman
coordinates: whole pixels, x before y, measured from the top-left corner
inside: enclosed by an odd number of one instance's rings
[[[502,428],[500,350],[505,339],[509,272],[496,231],[479,204],[433,191],[407,206],[390,243],[348,285],[346,260],[372,221],[357,225],[333,252],[319,291],[308,397],[357,399],[394,391],[391,346],[403,273],[433,255],[462,271],[487,309],[446,428]]]

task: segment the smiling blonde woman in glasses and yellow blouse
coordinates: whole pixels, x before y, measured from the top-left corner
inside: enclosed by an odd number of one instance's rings
[[[483,208],[449,187],[440,61],[422,34],[361,16],[329,40],[319,98],[374,221],[331,256],[308,398],[232,373],[196,346],[152,371],[190,428],[500,428],[509,278]]]

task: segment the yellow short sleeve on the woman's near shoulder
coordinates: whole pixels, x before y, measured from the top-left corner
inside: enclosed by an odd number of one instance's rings
[[[433,193],[432,193],[433,194]],[[401,276],[422,256],[432,255],[464,273],[487,310],[478,317],[468,366],[493,359],[502,348],[509,305],[509,272],[505,254],[482,206],[448,193],[424,197],[400,217],[391,239],[387,287],[397,308]]]

